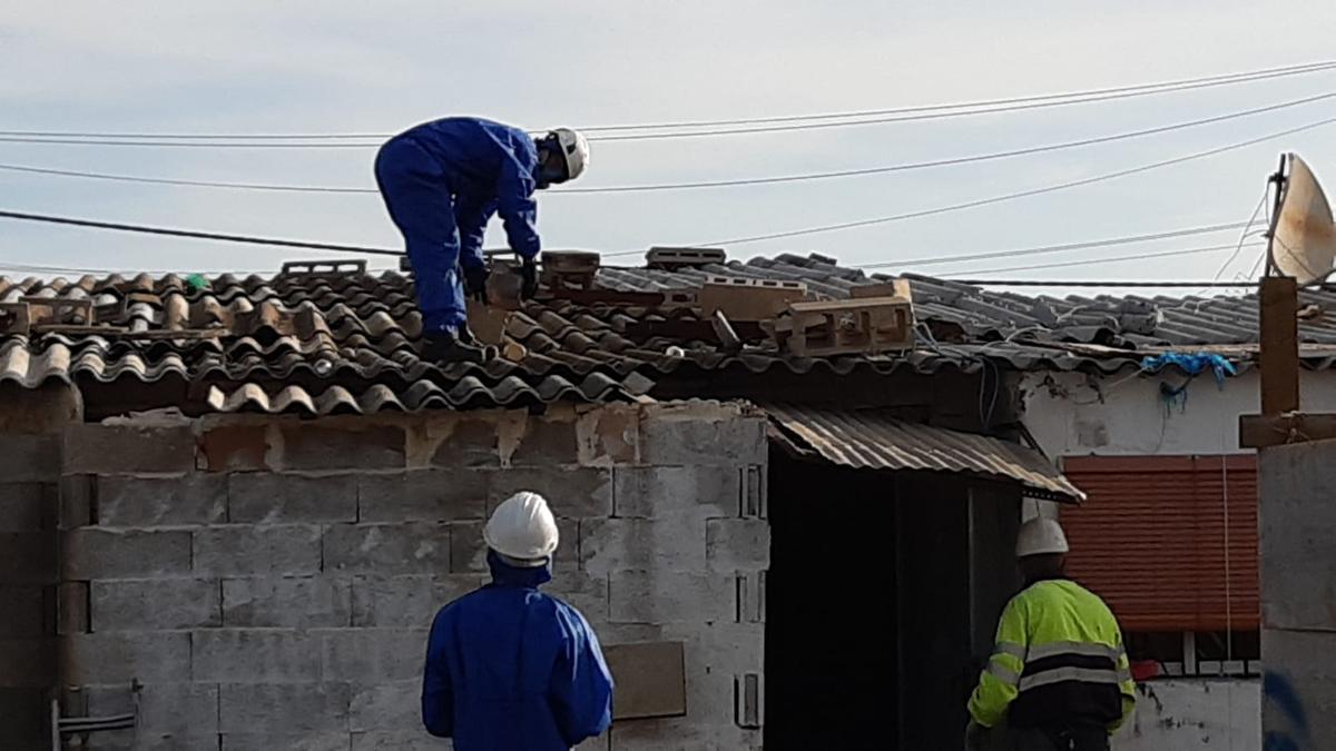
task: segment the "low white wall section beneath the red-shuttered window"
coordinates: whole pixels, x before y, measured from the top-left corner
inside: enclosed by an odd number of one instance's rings
[[[1153,680],[1114,751],[1261,751],[1261,686],[1253,680]]]

